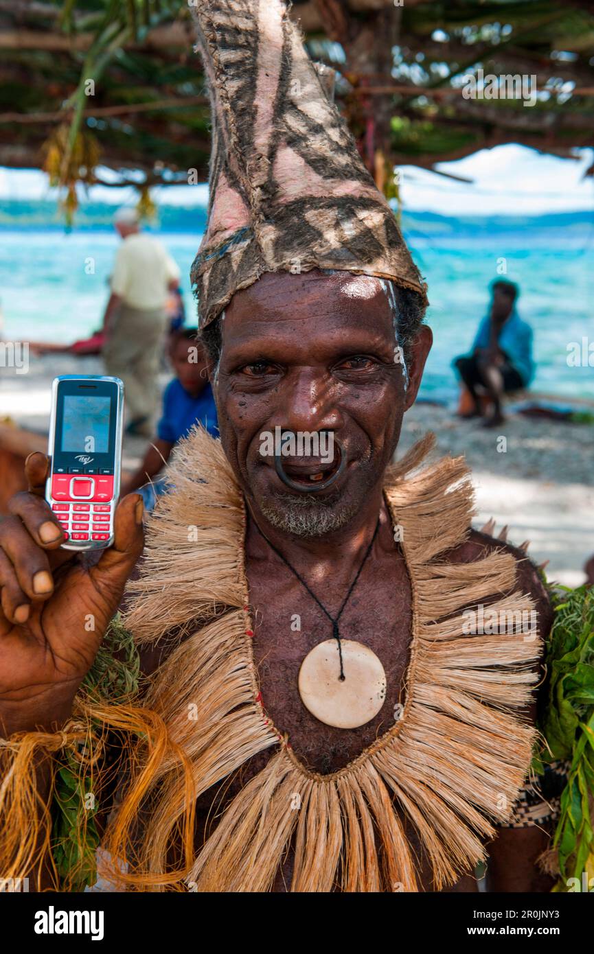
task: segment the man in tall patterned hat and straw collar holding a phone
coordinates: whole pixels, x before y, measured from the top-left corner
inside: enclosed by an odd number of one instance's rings
[[[181,443],[123,628],[138,496],[94,567],[64,562],[29,459],[0,528],[3,870],[80,882],[88,815],[65,865],[32,806],[64,764],[85,790],[95,759],[100,873],[122,889],[471,891],[488,852],[493,889],[547,890],[545,832],[515,808],[546,593],[470,528],[461,459],[422,467],[426,439],[392,465],[432,342],[424,284],[280,0],[193,9],[213,156],[192,275],[221,442]],[[469,632],[483,605],[538,632]],[[105,646],[144,678],[113,692]]]

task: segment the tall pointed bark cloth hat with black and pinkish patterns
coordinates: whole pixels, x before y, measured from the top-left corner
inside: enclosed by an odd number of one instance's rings
[[[265,272],[338,269],[425,286],[281,0],[192,5],[212,110],[199,325]]]

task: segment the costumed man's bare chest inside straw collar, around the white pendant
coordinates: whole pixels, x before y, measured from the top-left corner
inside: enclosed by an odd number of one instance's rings
[[[411,587],[402,557],[361,574],[339,618],[341,639],[371,649],[386,674],[386,697],[371,721],[337,729],[312,716],[299,694],[299,671],[307,654],[332,638],[332,622],[290,571],[271,576],[246,567],[254,624],[254,661],[266,714],[286,733],[295,755],[322,775],[335,772],[387,732],[399,716],[412,628]],[[316,596],[335,616],[346,593],[331,584]]]

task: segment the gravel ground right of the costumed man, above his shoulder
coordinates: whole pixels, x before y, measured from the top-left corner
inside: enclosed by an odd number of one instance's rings
[[[498,530],[508,526],[512,543],[531,541],[533,560],[549,561],[549,579],[580,586],[594,553],[594,425],[513,415],[491,430],[445,407],[414,404],[398,456],[428,430],[437,456],[466,456],[477,491],[475,526],[494,517]]]

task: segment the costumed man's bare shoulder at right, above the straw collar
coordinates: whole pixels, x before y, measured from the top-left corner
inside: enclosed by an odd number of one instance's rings
[[[534,600],[541,637],[545,638],[550,632],[553,621],[551,601],[537,566],[524,550],[514,547],[505,540],[492,537],[488,533],[470,529],[464,543],[453,550],[447,550],[443,556],[452,563],[475,563],[493,552],[510,553],[516,560],[516,587]]]

